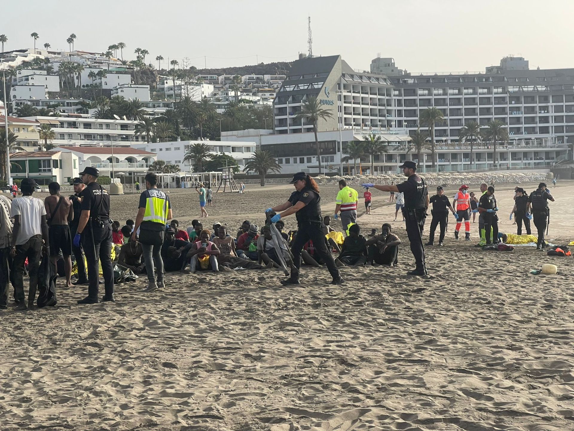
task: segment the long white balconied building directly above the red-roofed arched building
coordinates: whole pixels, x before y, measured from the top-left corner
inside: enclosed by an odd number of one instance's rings
[[[99,120],[97,118],[71,117],[26,117],[27,120],[38,124],[48,123],[56,132],[53,144],[66,145],[73,141],[82,141],[82,145],[110,145],[114,143],[140,142],[145,137],[135,135],[137,121],[131,120]]]

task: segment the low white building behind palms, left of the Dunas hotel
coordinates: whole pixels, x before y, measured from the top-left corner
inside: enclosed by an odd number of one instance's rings
[[[225,153],[235,159],[239,169],[245,167],[245,163],[253,158],[256,143],[253,141],[236,141],[222,143],[220,141],[170,141],[150,144],[134,144],[133,148],[149,151],[157,154],[156,160],[164,160],[165,163],[178,164],[183,172],[192,172],[192,162],[184,161],[185,153],[193,144],[205,144],[210,147],[214,154]]]

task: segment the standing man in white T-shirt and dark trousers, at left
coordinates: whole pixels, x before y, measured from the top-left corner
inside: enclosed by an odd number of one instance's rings
[[[24,263],[28,258],[30,287],[28,291],[28,308],[34,305],[38,287],[38,270],[42,252],[49,253],[48,223],[44,202],[32,197],[36,182],[24,178],[20,183],[22,196],[12,201],[10,217],[14,218],[12,230],[12,249],[14,258],[13,270],[14,297],[17,303],[15,310],[26,310],[24,297]]]

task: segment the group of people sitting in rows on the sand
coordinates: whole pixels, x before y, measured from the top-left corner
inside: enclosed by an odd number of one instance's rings
[[[339,266],[390,265],[397,264],[398,245],[401,240],[391,233],[391,225],[382,226],[381,234],[370,234],[368,238],[360,234],[360,226],[351,225],[348,236],[343,239],[341,232],[331,226],[331,217],[324,217],[325,243],[329,250],[336,253]],[[145,261],[142,245],[132,241],[134,221],[127,220],[126,225],[112,224],[113,241],[116,247],[116,261],[129,268],[134,274],[145,274]],[[228,227],[219,222],[212,230],[204,228],[198,220],[192,221],[187,229],[179,228],[179,221],[171,220],[166,226],[165,239],[161,247],[161,257],[165,272],[191,271],[227,271],[236,268],[246,270],[265,270],[281,268],[293,264],[290,253],[297,230],[284,232],[282,220],[275,224],[279,238],[274,238],[272,227],[265,224],[261,229],[245,220],[234,236]],[[281,257],[282,259],[281,259]],[[315,253],[313,241],[308,241],[302,251],[304,264],[320,268],[324,262]]]

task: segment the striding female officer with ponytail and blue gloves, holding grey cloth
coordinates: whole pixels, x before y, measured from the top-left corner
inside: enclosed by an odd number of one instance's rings
[[[321,206],[319,202],[319,186],[305,172],[297,172],[293,175],[290,184],[295,186],[295,191],[289,197],[289,200],[282,205],[277,205],[272,208],[267,208],[266,213],[269,211],[283,211],[281,214],[276,214],[271,219],[272,222],[277,222],[281,218],[295,214],[297,217],[297,236],[293,241],[291,252],[293,253],[293,264],[291,268],[291,277],[281,282],[284,286],[289,284],[299,284],[299,267],[301,266],[301,251],[307,241],[312,240],[313,245],[319,253],[319,257],[327,264],[327,268],[333,277],[331,284],[341,284],[344,280],[339,274],[339,270],[335,265],[335,261],[325,245],[325,232],[324,225],[321,219]]]

